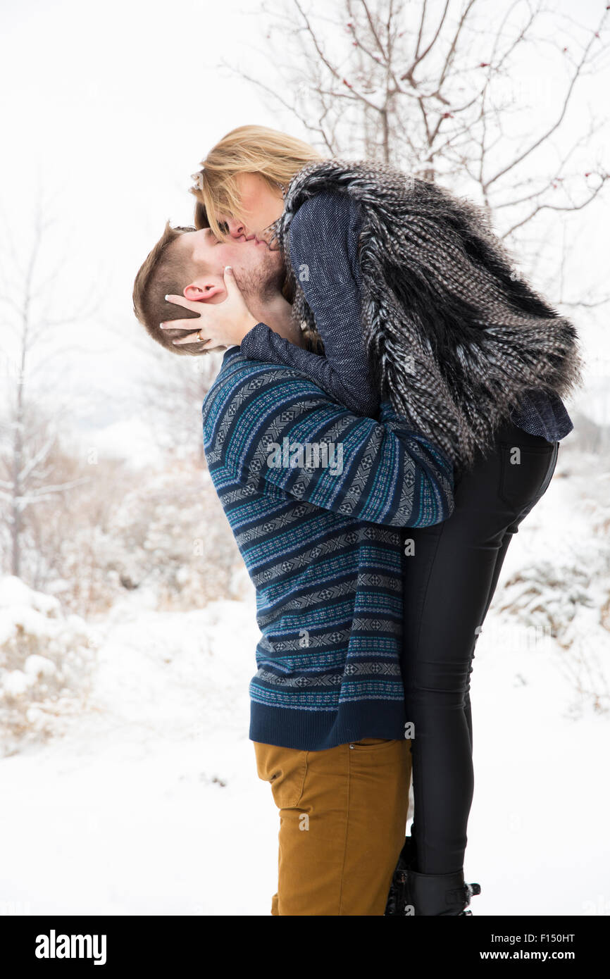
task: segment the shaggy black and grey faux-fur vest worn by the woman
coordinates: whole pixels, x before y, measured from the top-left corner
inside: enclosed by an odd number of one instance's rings
[[[457,469],[489,451],[532,391],[566,396],[580,383],[573,324],[515,272],[485,209],[388,165],[309,163],[275,225],[284,256],[293,215],[323,191],[360,205],[361,327],[381,397]],[[293,316],[315,337],[286,266]]]

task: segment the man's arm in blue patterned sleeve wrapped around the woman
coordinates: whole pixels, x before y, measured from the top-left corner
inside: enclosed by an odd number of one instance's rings
[[[362,418],[269,364],[220,396],[222,410],[204,417],[206,456],[243,486],[392,527],[427,527],[453,511],[450,463],[387,402],[379,422]]]

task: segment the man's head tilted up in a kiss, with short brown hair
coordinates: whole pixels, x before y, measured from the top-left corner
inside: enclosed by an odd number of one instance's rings
[[[195,303],[222,303],[226,299],[223,270],[232,265],[235,281],[246,302],[264,303],[280,293],[284,265],[279,251],[254,235],[231,235],[216,239],[210,228],[172,228],[165,224],[162,237],[146,257],[133,284],[133,310],[149,335],[174,353],[208,353],[199,344],[175,347],[172,340],[183,336],[162,330],[160,323],[172,319],[196,318],[196,314],[166,303],[164,297],[182,295]]]

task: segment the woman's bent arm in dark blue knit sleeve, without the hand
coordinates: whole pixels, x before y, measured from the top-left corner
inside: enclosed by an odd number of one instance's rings
[[[241,352],[299,370],[351,411],[376,417],[380,396],[372,380],[361,326],[357,204],[345,194],[318,194],[291,222],[289,252],[295,276],[315,317],[325,355],[295,347],[264,323],[246,334]]]

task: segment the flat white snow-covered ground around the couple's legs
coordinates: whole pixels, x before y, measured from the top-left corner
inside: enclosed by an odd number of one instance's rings
[[[574,553],[568,484],[553,480],[502,581]],[[248,739],[252,595],[161,613],[131,592],[97,628],[86,711],[0,761],[0,912],[268,914],[278,818]],[[490,615],[472,681],[475,914],[610,913],[610,718],[575,715],[560,663],[554,640]]]

